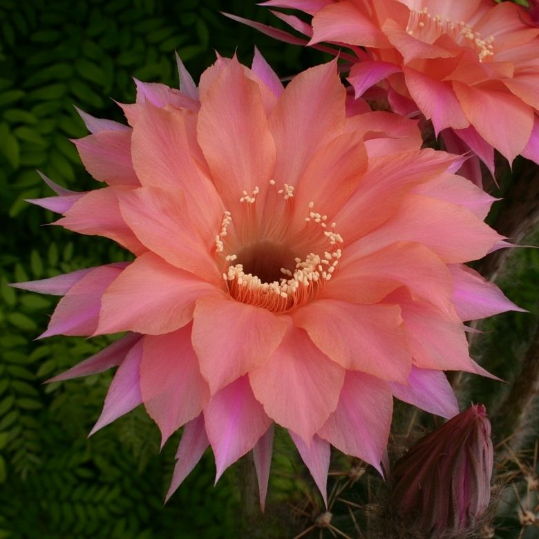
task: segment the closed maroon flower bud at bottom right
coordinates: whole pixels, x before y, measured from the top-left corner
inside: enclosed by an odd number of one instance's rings
[[[493,447],[482,404],[426,435],[395,464],[399,517],[435,537],[462,537],[489,505]],[[426,536],[426,535],[425,535]]]

